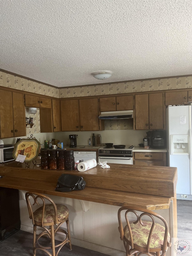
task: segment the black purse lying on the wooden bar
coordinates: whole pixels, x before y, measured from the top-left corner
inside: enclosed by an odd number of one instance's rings
[[[71,174],[62,174],[58,178],[56,191],[69,192],[72,190],[82,190],[85,188],[86,182],[82,176]]]

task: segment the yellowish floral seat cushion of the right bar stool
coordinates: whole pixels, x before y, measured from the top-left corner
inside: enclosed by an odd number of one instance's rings
[[[152,222],[143,221],[143,224],[146,226],[142,226],[140,222],[138,222],[137,224],[134,224],[133,222],[131,222],[130,226],[131,226],[134,244],[140,247],[146,248]],[[163,245],[164,233],[165,233],[165,227],[163,227],[158,223],[155,223],[155,227],[152,232],[152,238],[151,238],[151,243],[149,247],[150,248],[161,247]],[[130,241],[130,235],[129,235],[129,230],[127,226],[125,226],[124,228],[124,236]],[[168,234],[168,241],[170,241],[170,234]]]

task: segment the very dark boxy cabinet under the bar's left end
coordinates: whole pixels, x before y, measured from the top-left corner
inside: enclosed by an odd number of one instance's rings
[[[19,191],[0,187],[0,240],[20,229]]]

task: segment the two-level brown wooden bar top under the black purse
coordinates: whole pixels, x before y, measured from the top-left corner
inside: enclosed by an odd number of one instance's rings
[[[84,190],[55,191],[62,173],[82,176]],[[116,206],[140,206],[144,209],[168,209],[176,194],[177,169],[175,167],[134,166],[110,164],[110,168],[97,166],[85,172],[77,170],[43,170],[32,163],[17,167],[13,161],[0,165],[0,186],[27,191],[105,203]]]

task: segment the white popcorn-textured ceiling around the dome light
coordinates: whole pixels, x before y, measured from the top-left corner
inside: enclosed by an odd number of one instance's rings
[[[191,0],[1,0],[0,10],[1,69],[56,87],[192,74]]]

